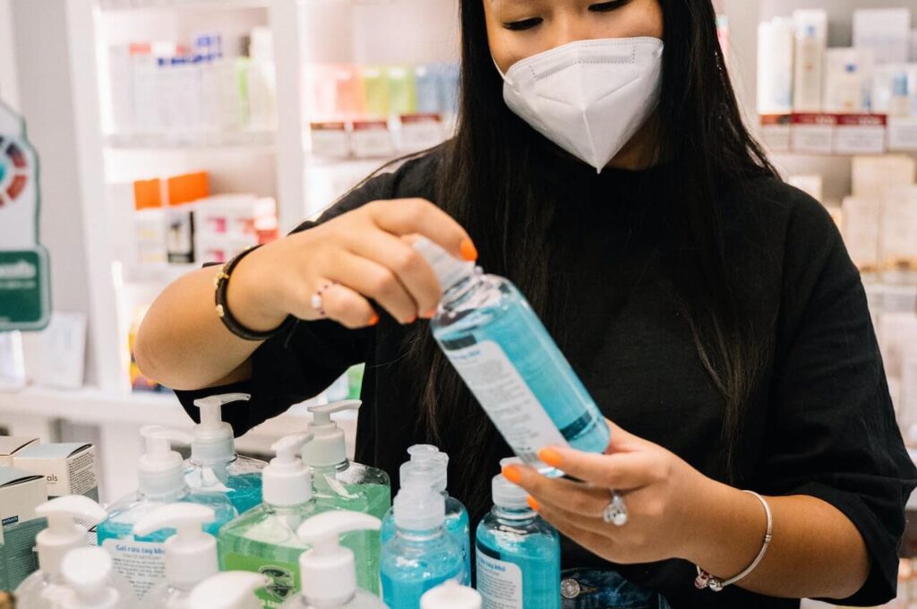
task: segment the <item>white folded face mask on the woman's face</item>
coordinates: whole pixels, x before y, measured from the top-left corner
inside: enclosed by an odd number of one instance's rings
[[[602,172],[656,109],[662,47],[655,38],[570,42],[501,73],[503,99],[536,131]]]

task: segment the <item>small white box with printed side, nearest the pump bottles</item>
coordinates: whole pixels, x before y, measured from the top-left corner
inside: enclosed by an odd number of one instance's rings
[[[34,471],[45,477],[48,499],[82,494],[99,500],[92,444],[33,444],[17,452],[13,463],[20,470]]]

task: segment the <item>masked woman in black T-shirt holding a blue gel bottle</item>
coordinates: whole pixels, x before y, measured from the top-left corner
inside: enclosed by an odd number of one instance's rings
[[[251,393],[226,409],[243,432],[366,361],[357,460],[394,474],[436,443],[476,519],[510,451],[418,319],[439,296],[408,245],[425,235],[519,285],[613,422],[605,455],[541,454],[587,483],[505,471],[565,536],[565,606],[889,599],[915,471],[866,297],[743,126],[710,0],[462,0],[461,19],[457,136],[239,259],[222,321],[217,270],[175,282],[140,367],[184,404]]]

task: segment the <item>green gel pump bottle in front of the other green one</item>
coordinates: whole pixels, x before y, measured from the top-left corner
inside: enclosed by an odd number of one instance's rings
[[[257,592],[261,606],[277,607],[299,591],[299,556],[308,548],[296,535],[317,512],[312,475],[298,458],[312,434],[282,437],[271,446],[277,456],[264,469],[264,503],[227,523],[218,536],[223,570],[260,573],[269,583]]]

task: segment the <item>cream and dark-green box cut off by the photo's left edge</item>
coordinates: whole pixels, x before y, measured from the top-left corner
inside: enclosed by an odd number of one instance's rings
[[[35,508],[47,500],[40,474],[0,467],[0,590],[15,590],[39,568],[35,536],[46,521]]]

